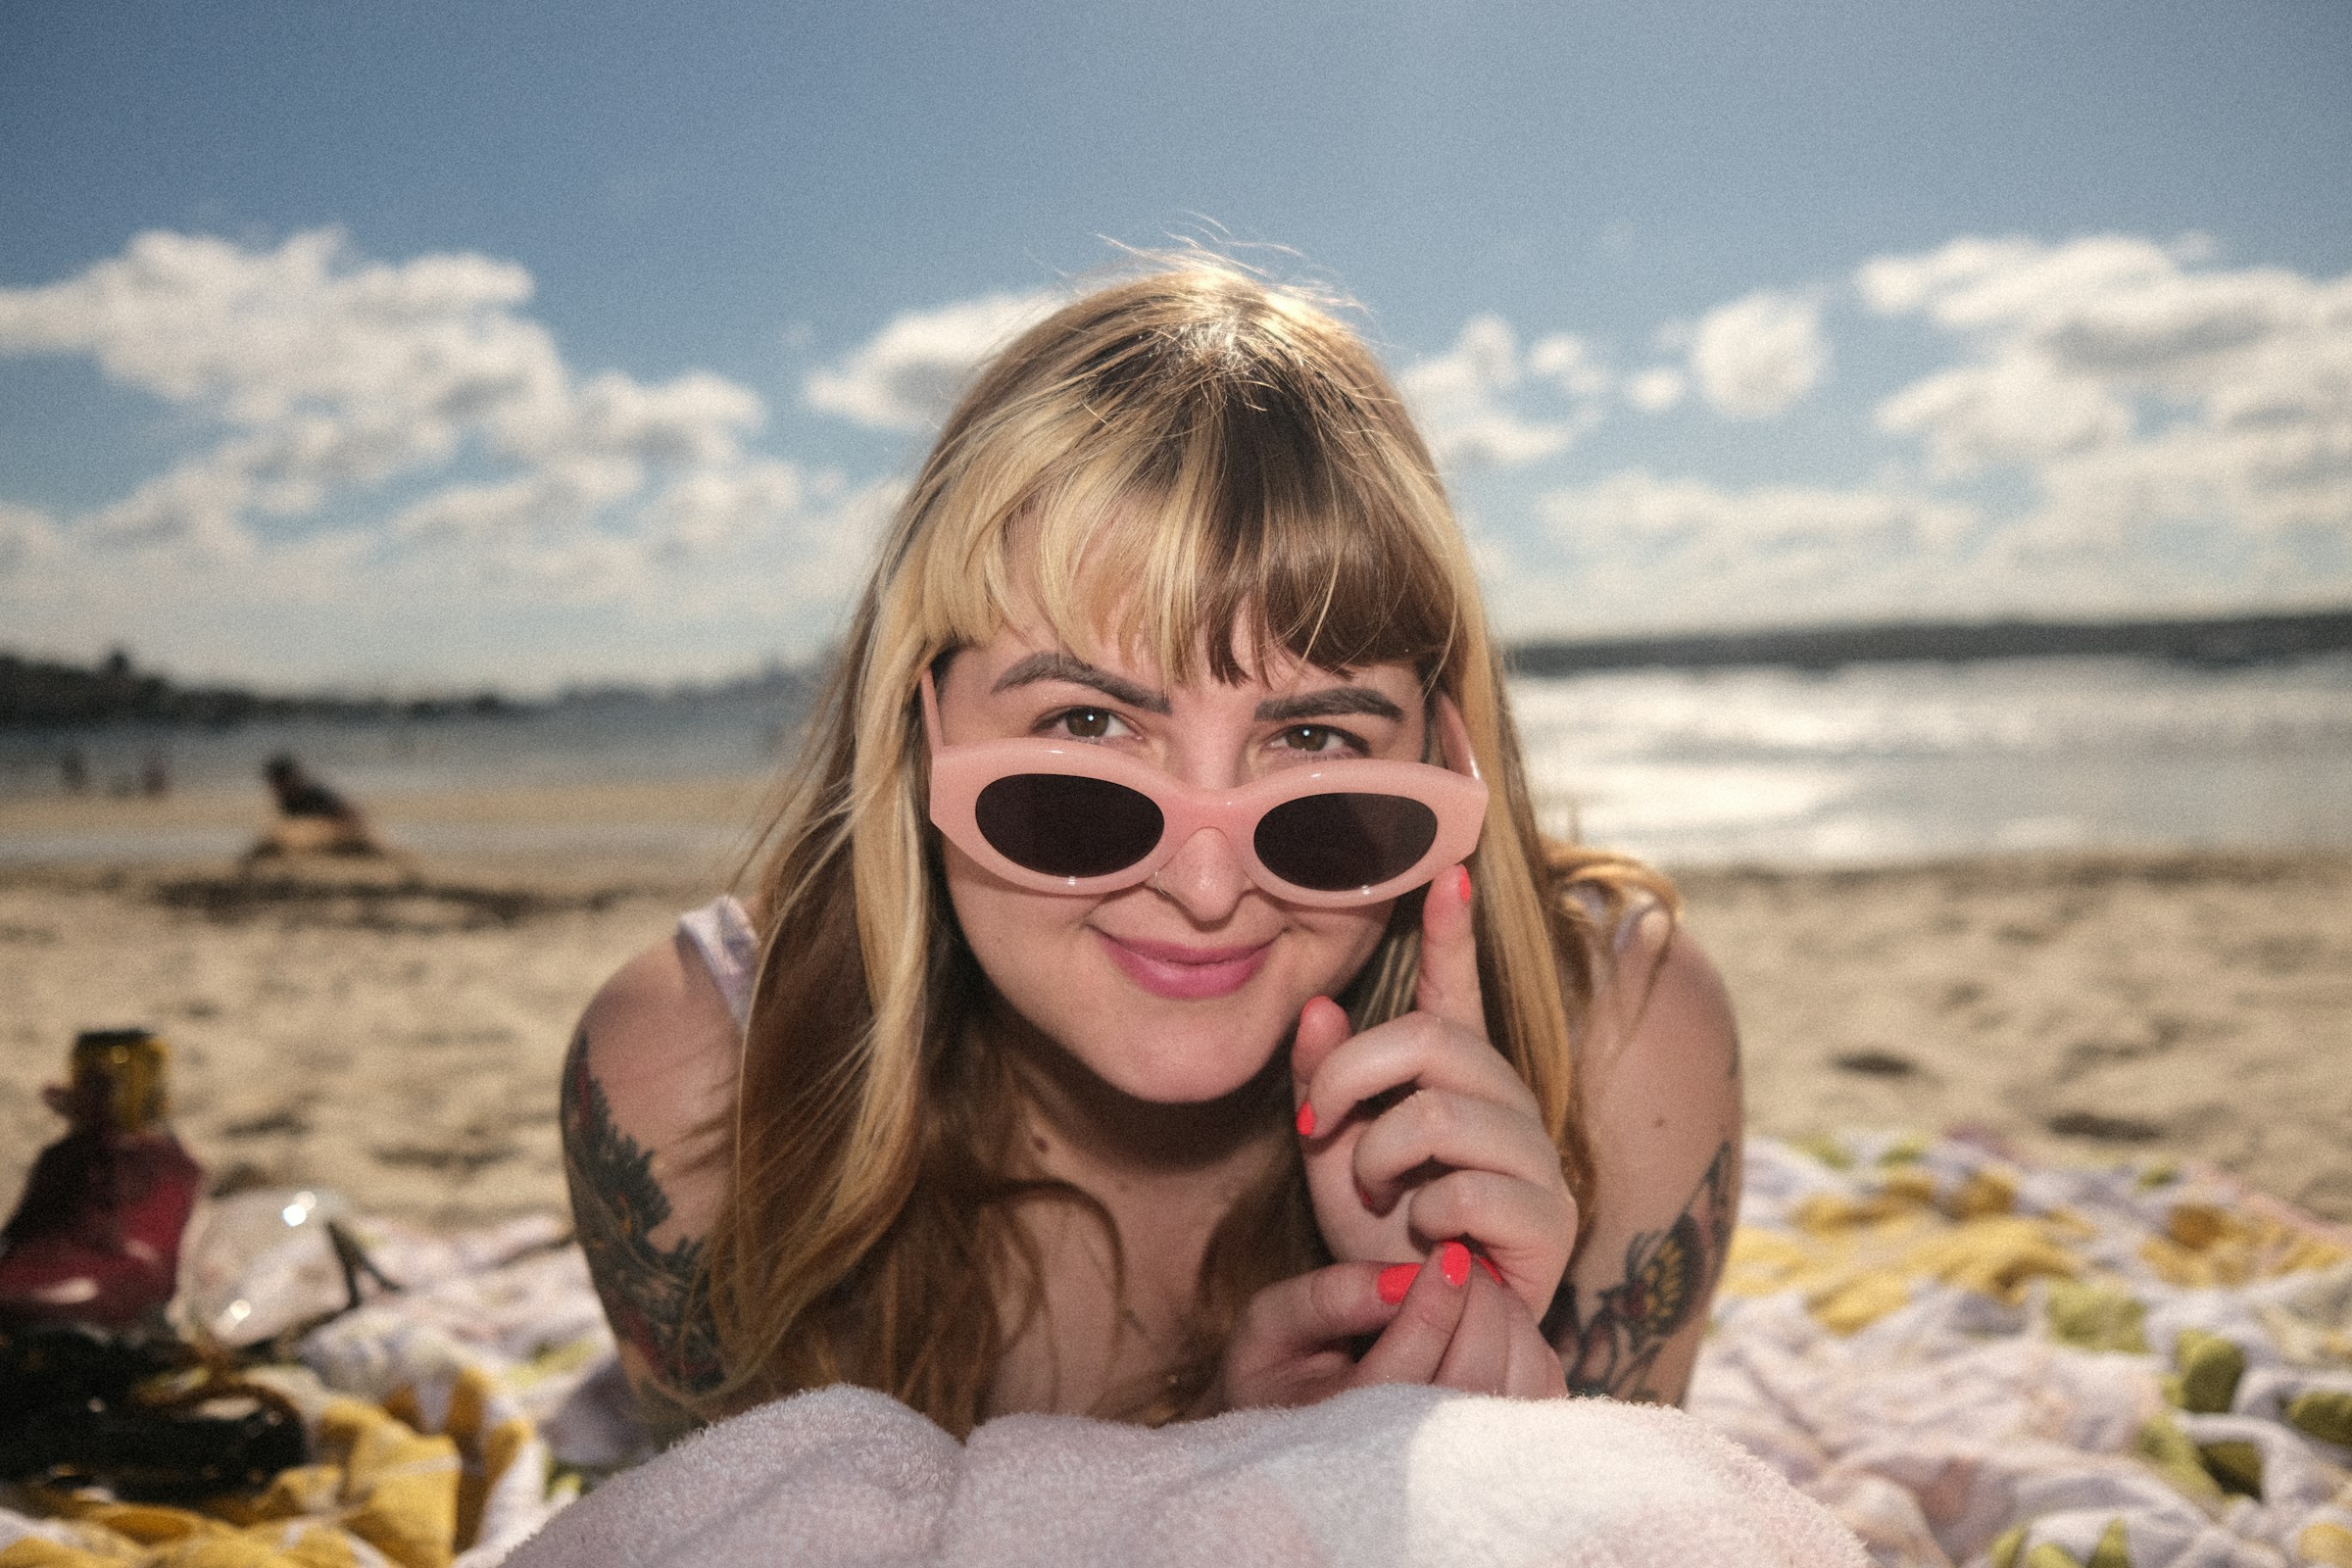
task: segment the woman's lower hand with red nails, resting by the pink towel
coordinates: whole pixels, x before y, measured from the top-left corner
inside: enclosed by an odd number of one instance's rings
[[[1381,1331],[1362,1359],[1350,1342]],[[1526,1305],[1446,1241],[1421,1265],[1336,1262],[1258,1291],[1225,1342],[1214,1408],[1317,1403],[1374,1382],[1557,1399],[1559,1354]]]

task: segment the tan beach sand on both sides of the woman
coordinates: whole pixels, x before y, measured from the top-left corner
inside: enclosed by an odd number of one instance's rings
[[[661,799],[722,839],[748,795]],[[108,809],[73,806],[120,825]],[[397,837],[644,809],[513,792],[379,816]],[[61,811],[0,804],[0,849]],[[59,1128],[38,1088],[75,1030],[148,1025],[216,1182],[320,1185],[442,1225],[560,1208],[572,1023],[724,872],[722,853],[581,846],[416,858],[409,882],[0,863],[0,1194]],[[1757,1131],[1973,1126],[2044,1159],[2190,1157],[2352,1220],[2347,856],[1703,872],[1684,891],[1740,1013]]]

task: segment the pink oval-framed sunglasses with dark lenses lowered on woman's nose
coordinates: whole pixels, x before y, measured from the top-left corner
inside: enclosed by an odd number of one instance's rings
[[[1084,741],[948,745],[924,670],[931,823],[1004,882],[1040,893],[1134,886],[1216,827],[1275,898],[1327,910],[1395,898],[1465,860],[1486,823],[1463,717],[1451,698],[1435,708],[1449,766],[1348,757],[1195,790]]]

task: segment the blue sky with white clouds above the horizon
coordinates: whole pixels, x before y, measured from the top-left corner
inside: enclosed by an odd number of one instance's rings
[[[1522,635],[2340,604],[2347,80],[2336,0],[9,5],[0,646],[802,656],[1171,235],[1364,306]]]

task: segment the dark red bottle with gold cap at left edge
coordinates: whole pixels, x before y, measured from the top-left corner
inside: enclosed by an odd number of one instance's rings
[[[172,1300],[205,1173],[165,1121],[169,1060],[148,1030],[73,1041],[71,1081],[47,1091],[66,1135],[0,1229],[0,1319],[129,1328]]]

